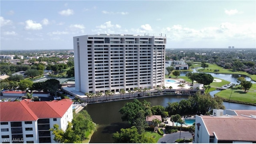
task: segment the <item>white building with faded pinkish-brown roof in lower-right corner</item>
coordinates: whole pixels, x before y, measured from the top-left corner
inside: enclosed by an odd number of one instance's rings
[[[214,109],[213,115],[196,115],[193,143],[256,143],[256,110]]]

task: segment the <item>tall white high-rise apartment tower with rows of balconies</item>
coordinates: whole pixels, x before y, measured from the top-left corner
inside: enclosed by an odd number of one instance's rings
[[[77,36],[73,41],[77,91],[164,86],[166,37],[100,34]]]

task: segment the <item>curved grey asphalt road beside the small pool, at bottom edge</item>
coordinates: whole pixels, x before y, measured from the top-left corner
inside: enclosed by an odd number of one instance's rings
[[[190,132],[182,131],[180,134],[180,131],[178,131],[171,134],[166,134],[164,137],[160,138],[157,143],[175,143],[175,140],[179,138],[183,139],[184,137],[193,138]]]

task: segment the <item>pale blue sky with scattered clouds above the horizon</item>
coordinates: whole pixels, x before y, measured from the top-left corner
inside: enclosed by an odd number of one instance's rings
[[[166,36],[166,48],[256,48],[255,0],[1,0],[0,49],[73,49],[73,37]]]

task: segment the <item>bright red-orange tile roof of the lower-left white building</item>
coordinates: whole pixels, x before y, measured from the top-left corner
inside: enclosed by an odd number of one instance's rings
[[[72,101],[13,101],[0,103],[0,121],[36,121],[61,118]]]

